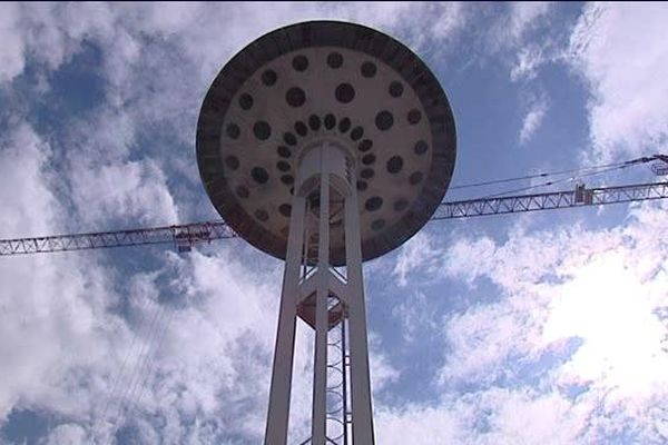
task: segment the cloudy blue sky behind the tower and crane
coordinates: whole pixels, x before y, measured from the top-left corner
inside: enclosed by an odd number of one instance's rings
[[[666,3],[0,3],[0,238],[217,219],[204,95],[308,19],[425,60],[455,117],[452,186],[668,152]],[[667,209],[434,221],[366,263],[376,443],[667,443]],[[281,277],[239,239],[0,258],[0,444],[262,443]],[[310,342],[301,325],[291,443]]]

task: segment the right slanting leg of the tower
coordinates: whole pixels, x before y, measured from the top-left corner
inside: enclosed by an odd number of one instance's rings
[[[345,200],[345,256],[347,271],[348,333],[351,354],[351,394],[353,411],[353,444],[373,445],[373,411],[369,375],[366,309],[362,275],[362,246],[357,190],[352,187]]]

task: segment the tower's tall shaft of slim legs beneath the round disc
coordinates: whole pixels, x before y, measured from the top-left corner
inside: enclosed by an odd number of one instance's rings
[[[265,445],[287,442],[297,317],[313,328],[315,339],[312,436],[305,443],[374,443],[360,210],[352,182],[356,175],[351,171],[354,168],[347,150],[331,140],[306,149],[299,162],[292,198]],[[345,238],[344,268],[336,269],[331,264],[334,236]],[[336,327],[341,329],[343,345],[340,362],[328,356],[332,346],[328,338]],[[330,382],[336,376],[332,363],[341,364],[340,382]],[[341,388],[342,408],[332,407],[336,403],[332,398],[334,387]],[[332,413],[338,413],[340,418]]]

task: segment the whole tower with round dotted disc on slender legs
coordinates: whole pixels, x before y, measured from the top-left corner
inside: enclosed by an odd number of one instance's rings
[[[430,219],[455,159],[439,81],[409,48],[312,21],[239,51],[209,88],[197,161],[225,221],[285,260],[266,445],[287,439],[296,323],[314,333],[314,445],[374,443],[362,264]]]

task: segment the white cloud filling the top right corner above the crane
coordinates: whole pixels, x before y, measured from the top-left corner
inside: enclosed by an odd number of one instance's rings
[[[573,30],[570,61],[590,86],[598,160],[665,148],[667,20],[660,3],[592,3]]]

